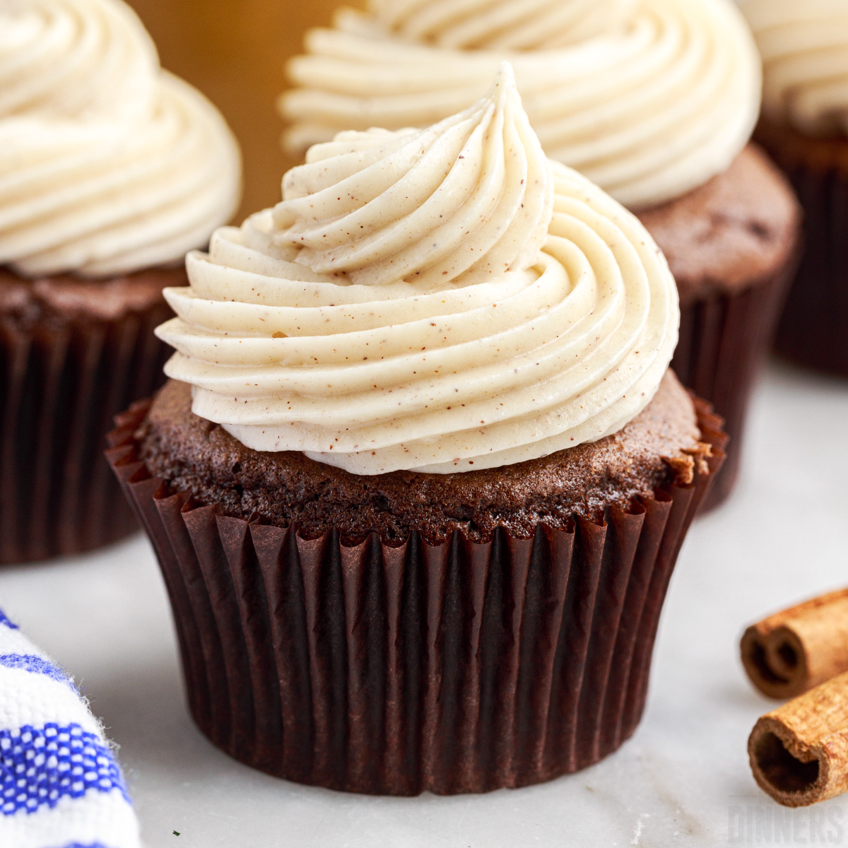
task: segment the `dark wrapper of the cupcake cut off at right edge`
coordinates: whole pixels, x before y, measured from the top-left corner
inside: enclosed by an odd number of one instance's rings
[[[780,319],[776,348],[790,360],[848,377],[848,175],[792,165],[806,251]]]

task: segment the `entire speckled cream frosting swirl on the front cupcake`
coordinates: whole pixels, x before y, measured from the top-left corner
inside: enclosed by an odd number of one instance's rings
[[[474,471],[616,432],[678,295],[633,215],[547,159],[509,64],[425,130],[348,131],[187,258],[167,374],[248,448],[357,474]]]

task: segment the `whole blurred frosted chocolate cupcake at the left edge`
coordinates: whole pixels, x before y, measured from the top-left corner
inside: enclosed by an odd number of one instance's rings
[[[153,329],[239,197],[239,154],[119,0],[0,5],[0,563],[137,528],[103,462],[161,385]]]

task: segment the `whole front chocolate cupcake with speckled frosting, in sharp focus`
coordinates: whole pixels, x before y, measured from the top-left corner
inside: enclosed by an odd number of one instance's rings
[[[533,784],[633,734],[723,458],[668,370],[639,220],[547,159],[510,65],[425,130],[349,131],[187,258],[170,382],[112,433],[192,715],[306,784]]]

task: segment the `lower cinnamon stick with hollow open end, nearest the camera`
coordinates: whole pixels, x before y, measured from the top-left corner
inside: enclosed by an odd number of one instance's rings
[[[778,804],[808,806],[848,791],[848,672],[763,716],[748,756]]]

